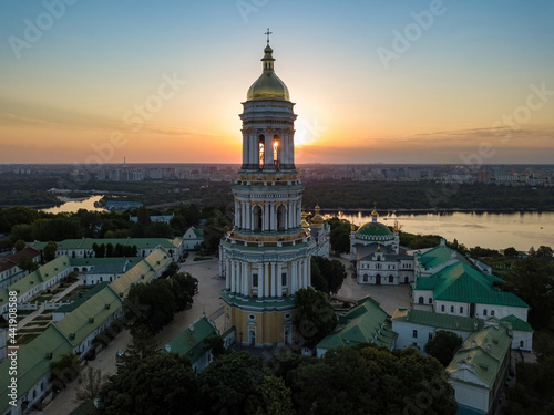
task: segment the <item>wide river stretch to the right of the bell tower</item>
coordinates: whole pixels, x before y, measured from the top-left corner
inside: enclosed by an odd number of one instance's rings
[[[337,214],[325,215],[329,218]],[[369,212],[338,212],[339,218],[356,225],[371,220]],[[514,247],[526,251],[541,245],[554,248],[554,212],[517,214],[425,214],[425,215],[387,215],[379,221],[392,226],[398,220],[401,229],[410,234],[440,235],[449,241],[458,239],[468,248],[504,249]]]

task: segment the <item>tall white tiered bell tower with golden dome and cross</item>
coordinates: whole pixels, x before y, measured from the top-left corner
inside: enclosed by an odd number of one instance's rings
[[[311,284],[316,242],[301,227],[304,185],[295,167],[294,103],[269,46],[243,103],[243,163],[232,191],[234,229],[222,239],[226,329],[243,345],[291,343],[295,292]]]

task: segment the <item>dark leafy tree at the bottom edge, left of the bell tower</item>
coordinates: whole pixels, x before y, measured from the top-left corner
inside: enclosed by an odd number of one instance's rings
[[[198,384],[185,356],[156,354],[124,366],[102,387],[100,415],[194,414]]]

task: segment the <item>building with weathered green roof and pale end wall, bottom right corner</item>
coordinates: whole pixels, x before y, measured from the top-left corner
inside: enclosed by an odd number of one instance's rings
[[[471,334],[447,367],[458,405],[492,414],[510,366],[512,332],[503,323],[489,323]]]

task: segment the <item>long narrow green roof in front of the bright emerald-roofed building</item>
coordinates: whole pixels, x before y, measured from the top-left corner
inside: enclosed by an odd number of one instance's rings
[[[484,320],[472,319],[469,317],[450,315],[434,313],[431,311],[416,309],[398,309],[392,315],[394,321],[406,321],[414,324],[428,325],[445,330],[460,330],[473,332],[483,328]]]

